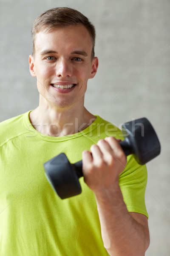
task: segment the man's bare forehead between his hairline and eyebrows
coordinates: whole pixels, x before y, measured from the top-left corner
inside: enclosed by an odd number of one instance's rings
[[[59,49],[61,51],[80,49],[91,53],[92,38],[83,25],[58,27],[48,32],[41,31],[37,33],[34,38],[34,48],[35,52],[50,48],[57,51]]]

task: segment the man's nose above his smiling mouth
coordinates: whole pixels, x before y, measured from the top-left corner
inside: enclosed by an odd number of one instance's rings
[[[60,59],[57,61],[56,74],[58,77],[70,77],[72,75],[71,63],[66,59]]]

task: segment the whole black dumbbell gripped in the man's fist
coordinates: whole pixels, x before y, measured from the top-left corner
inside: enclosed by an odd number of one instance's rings
[[[125,155],[133,154],[143,165],[160,154],[161,146],[147,118],[140,118],[122,125],[125,140],[120,142]],[[48,182],[60,198],[65,199],[82,192],[79,177],[82,177],[82,160],[70,163],[64,153],[44,163]]]

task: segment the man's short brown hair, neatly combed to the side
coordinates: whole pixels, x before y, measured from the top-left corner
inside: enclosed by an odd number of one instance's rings
[[[43,12],[34,21],[31,30],[33,40],[33,55],[35,54],[34,39],[37,33],[39,33],[40,31],[49,32],[51,29],[54,29],[56,27],[65,27],[68,25],[77,24],[82,24],[88,30],[93,45],[91,57],[94,58],[94,45],[96,37],[94,25],[81,12],[68,7],[50,9],[46,12]]]

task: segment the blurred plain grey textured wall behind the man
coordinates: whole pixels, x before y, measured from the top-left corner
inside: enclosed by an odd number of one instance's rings
[[[0,0],[0,121],[37,107],[30,30],[40,13],[59,6],[78,9],[96,26],[99,70],[89,81],[88,110],[118,126],[146,116],[157,131],[161,155],[147,164],[146,255],[169,256],[170,1]]]

